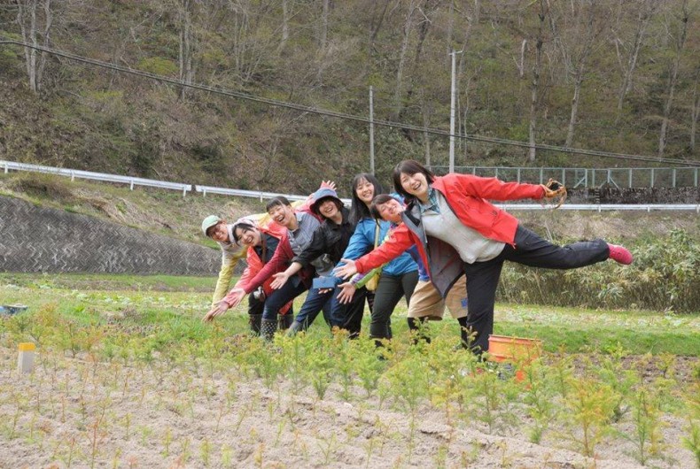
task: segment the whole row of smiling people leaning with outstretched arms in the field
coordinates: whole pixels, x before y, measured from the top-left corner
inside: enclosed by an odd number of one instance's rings
[[[207,217],[204,233],[224,253],[230,246],[245,250],[248,265],[227,296],[214,296],[205,319],[247,295],[251,328],[264,339],[280,326],[287,334],[305,330],[320,311],[330,327],[355,337],[367,303],[369,335],[379,344],[392,338],[392,312],[404,297],[408,326],[419,331],[417,337],[430,340],[420,333],[421,323],[441,319],[447,303],[459,321],[463,345],[481,353],[493,332],[505,260],[551,269],[633,260],[628,250],[603,240],[556,246],[487,201],[559,195],[541,184],[456,173],[439,177],[405,160],[393,170],[394,194],[369,173],[355,176],[351,189],[349,209],[335,185],[323,182],[299,207],[284,196],[270,200],[268,221],[246,218],[229,225]],[[305,302],[292,320],[292,301],[304,292]]]

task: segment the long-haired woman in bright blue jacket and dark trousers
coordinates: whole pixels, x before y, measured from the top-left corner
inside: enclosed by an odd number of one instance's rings
[[[384,188],[372,174],[360,173],[354,177],[350,220],[356,222],[357,227],[350,238],[343,258],[362,258],[374,249],[375,242],[381,244],[382,240],[385,239],[391,223],[384,220],[377,221],[372,218],[369,212],[372,199],[384,193]],[[391,316],[393,309],[401,300],[401,296],[406,298],[407,304],[409,303],[417,282],[418,266],[408,253],[401,254],[382,268],[372,305],[372,320],[369,324],[369,335],[372,338],[377,339],[377,341],[392,338]]]

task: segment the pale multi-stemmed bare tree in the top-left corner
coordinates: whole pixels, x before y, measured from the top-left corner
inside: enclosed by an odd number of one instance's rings
[[[43,47],[51,44],[51,26],[53,23],[53,11],[51,0],[17,0],[17,23],[22,34],[22,41]],[[41,9],[43,17],[37,15]],[[37,55],[39,56],[37,58]],[[29,88],[38,93],[42,88],[43,70],[46,65],[46,52],[39,52],[35,48],[24,48],[25,62],[27,65],[27,77]]]

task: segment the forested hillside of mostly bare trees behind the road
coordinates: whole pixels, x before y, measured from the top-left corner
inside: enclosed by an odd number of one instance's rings
[[[304,193],[369,169],[447,165],[455,133],[698,159],[697,0],[18,0],[0,38],[0,158]],[[0,40],[2,40],[0,39]],[[649,165],[457,139],[457,165]],[[666,162],[664,165],[670,165]],[[342,191],[346,196],[346,191]]]

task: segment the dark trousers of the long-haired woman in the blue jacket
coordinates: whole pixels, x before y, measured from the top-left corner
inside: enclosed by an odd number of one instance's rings
[[[382,273],[377,290],[374,293],[372,321],[369,323],[369,336],[374,339],[392,338],[392,312],[401,301],[401,296],[410,302],[413,290],[418,283],[418,271],[403,275],[387,275]]]

